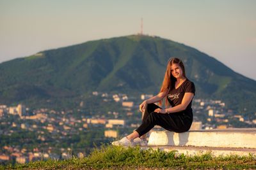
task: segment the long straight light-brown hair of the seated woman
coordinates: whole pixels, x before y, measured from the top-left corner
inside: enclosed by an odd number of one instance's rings
[[[179,64],[179,66],[182,69],[182,75],[186,78],[185,67],[184,67],[182,60],[175,58],[175,57],[170,58],[168,60],[168,64],[167,64],[166,71],[164,74],[164,80],[163,80],[163,83],[162,83],[162,86],[160,89],[160,92],[167,93],[167,95],[169,94],[170,90],[172,90],[175,87],[175,81],[177,80],[175,77],[173,77],[172,72],[171,72],[172,64]],[[160,106],[163,105],[163,100],[165,101],[166,106],[169,106],[167,97],[164,97],[164,99],[159,101]]]

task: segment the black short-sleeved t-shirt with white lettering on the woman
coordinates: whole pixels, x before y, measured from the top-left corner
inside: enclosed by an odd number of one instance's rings
[[[177,106],[182,102],[185,92],[192,92],[195,96],[195,85],[192,81],[188,80],[188,78],[177,89],[173,88],[170,90],[168,94],[168,101],[172,107]],[[192,113],[192,100],[185,110],[186,113]]]

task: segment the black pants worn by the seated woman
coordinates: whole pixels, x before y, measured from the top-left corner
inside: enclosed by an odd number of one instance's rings
[[[136,131],[140,136],[146,134],[155,125],[159,125],[168,131],[186,132],[193,122],[193,113],[180,111],[177,113],[156,113],[154,110],[160,108],[156,104],[148,104],[143,115],[142,124]]]

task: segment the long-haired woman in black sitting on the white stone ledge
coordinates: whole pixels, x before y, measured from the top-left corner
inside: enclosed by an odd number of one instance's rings
[[[182,60],[171,58],[168,60],[159,94],[140,104],[140,111],[144,112],[140,127],[128,136],[118,141],[113,141],[112,145],[146,145],[145,134],[154,125],[179,133],[188,131],[193,122],[191,104],[194,96],[195,85],[186,78]],[[162,106],[163,99],[165,99],[166,108],[160,108],[154,104],[159,102]]]

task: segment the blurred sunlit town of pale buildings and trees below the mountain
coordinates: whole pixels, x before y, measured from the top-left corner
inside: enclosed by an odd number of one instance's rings
[[[84,113],[83,109],[31,110],[23,104],[6,106],[0,104],[0,162],[25,163],[31,160],[67,159],[84,157],[93,146],[110,143],[132,132],[141,123],[140,103],[152,97],[127,94],[93,92],[99,103],[118,104],[118,111]],[[84,101],[79,103],[83,108]],[[100,106],[100,104],[99,104]],[[193,125],[190,130],[255,127],[253,118],[244,117],[225,108],[222,101],[194,99]],[[163,130],[154,127],[153,131]]]

